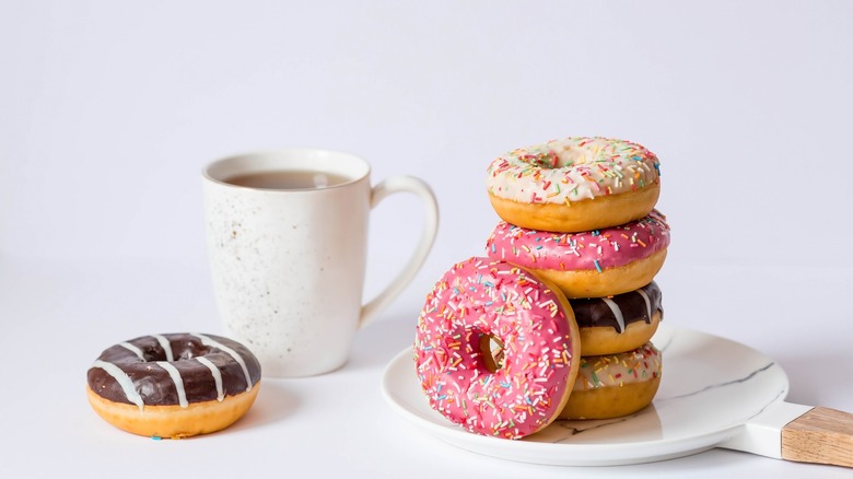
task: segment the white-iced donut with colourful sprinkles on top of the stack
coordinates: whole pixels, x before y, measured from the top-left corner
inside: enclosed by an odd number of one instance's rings
[[[659,162],[644,147],[572,137],[514,150],[492,161],[489,199],[504,221],[574,233],[648,214],[661,192]]]

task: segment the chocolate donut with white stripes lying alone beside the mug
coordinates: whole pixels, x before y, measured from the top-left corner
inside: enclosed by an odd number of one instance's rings
[[[185,437],[218,431],[252,406],[260,364],[219,336],[143,336],[106,349],[86,373],[90,404],[129,432]]]

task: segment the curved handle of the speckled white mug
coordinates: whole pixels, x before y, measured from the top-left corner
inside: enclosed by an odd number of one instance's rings
[[[361,307],[361,318],[359,327],[364,327],[373,322],[377,314],[385,309],[394,299],[414,279],[418,270],[426,260],[426,255],[435,242],[435,235],[439,232],[439,203],[432,188],[420,178],[413,176],[393,176],[381,182],[371,190],[371,209],[375,208],[382,200],[395,192],[409,191],[418,196],[423,205],[423,231],[418,246],[409,258],[409,262],[402,268],[396,278],[385,290]]]

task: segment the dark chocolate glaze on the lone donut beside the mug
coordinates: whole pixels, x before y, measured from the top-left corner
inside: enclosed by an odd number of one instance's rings
[[[189,334],[161,335],[168,339],[172,347],[171,364],[180,373],[187,401],[201,402],[217,399],[217,386],[213,374],[205,364],[195,358],[205,357],[222,375],[222,389],[225,395],[234,396],[245,393],[249,385],[243,367],[227,352],[206,346],[197,336]],[[234,350],[246,364],[246,370],[254,386],[260,381],[260,363],[255,354],[245,346],[221,336],[203,335]],[[133,382],[133,386],[147,406],[178,405],[178,393],[175,382],[166,370],[156,361],[166,361],[166,351],[153,336],[142,336],[126,341],[142,351],[143,359],[124,346],[116,344],[106,349],[98,360],[109,362],[124,371]],[[124,404],[132,404],[121,386],[105,370],[92,366],[86,373],[89,387],[98,396]]]

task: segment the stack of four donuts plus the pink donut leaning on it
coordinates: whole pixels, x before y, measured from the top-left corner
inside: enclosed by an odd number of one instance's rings
[[[445,272],[418,318],[430,406],[506,439],[646,407],[661,381],[653,279],[669,244],[654,210],[657,157],[628,141],[568,138],[515,150],[488,173],[503,221],[487,257]]]

